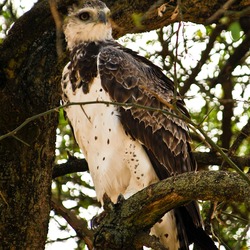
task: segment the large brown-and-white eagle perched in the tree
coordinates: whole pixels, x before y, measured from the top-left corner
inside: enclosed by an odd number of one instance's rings
[[[120,194],[128,198],[159,180],[194,171],[196,162],[187,124],[178,118],[178,112],[188,112],[173,82],[112,38],[109,16],[99,0],[70,10],[64,24],[70,62],[62,75],[62,99],[134,104],[65,108],[98,200],[103,202],[107,194],[115,203]],[[195,201],[168,212],[151,233],[170,250],[189,249],[192,242],[201,249],[216,249],[202,229]]]

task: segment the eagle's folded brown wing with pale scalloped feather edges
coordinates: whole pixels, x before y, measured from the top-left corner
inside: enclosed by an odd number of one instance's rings
[[[143,144],[159,179],[195,170],[188,128],[176,117],[174,102],[182,113],[188,113],[180,97],[174,98],[173,82],[135,52],[111,46],[100,51],[99,72],[114,101],[148,107],[120,108],[121,122]]]

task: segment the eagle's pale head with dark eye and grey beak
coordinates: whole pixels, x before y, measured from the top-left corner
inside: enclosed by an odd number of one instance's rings
[[[83,42],[112,39],[110,10],[99,0],[83,1],[69,9],[64,34],[69,50]]]

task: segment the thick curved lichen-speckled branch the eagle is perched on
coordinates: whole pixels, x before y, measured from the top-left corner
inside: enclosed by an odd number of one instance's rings
[[[153,184],[128,200],[109,204],[95,234],[96,249],[135,249],[133,239],[167,211],[191,200],[237,201],[250,207],[250,186],[236,173],[184,173]],[[119,233],[117,233],[119,232]]]

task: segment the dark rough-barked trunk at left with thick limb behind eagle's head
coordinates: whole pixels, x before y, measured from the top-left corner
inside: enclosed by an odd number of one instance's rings
[[[66,14],[73,1],[59,1]],[[116,37],[148,31],[178,18],[204,23],[220,1],[182,1],[181,16],[174,18],[176,2],[106,1],[111,7]],[[237,1],[234,10],[247,1]],[[133,14],[140,17],[135,25]],[[135,16],[134,16],[135,17]],[[171,20],[171,17],[173,20]],[[138,19],[137,19],[138,20]],[[39,1],[20,18],[0,47],[0,134],[16,128],[26,118],[59,104],[60,72],[55,27],[47,0]],[[25,126],[12,138],[0,141],[0,249],[43,249],[50,211],[50,185],[54,160],[56,114]]]

